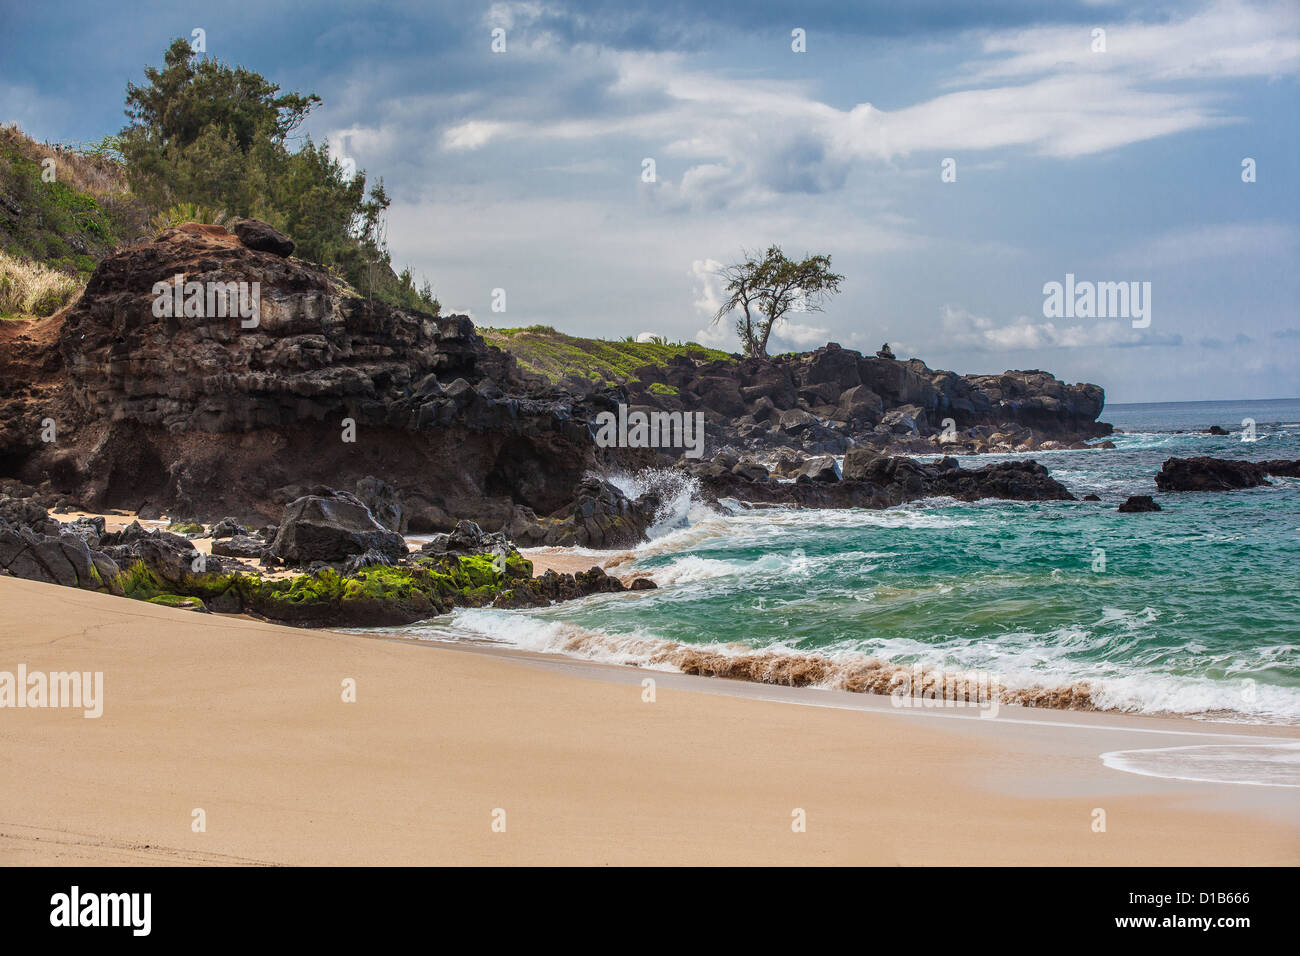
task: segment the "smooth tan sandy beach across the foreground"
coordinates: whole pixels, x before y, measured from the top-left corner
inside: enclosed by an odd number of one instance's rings
[[[1295,790],[1098,760],[1294,728],[940,719],[0,578],[0,671],[20,663],[103,671],[105,700],[99,719],[0,709],[4,864],[1300,862]]]

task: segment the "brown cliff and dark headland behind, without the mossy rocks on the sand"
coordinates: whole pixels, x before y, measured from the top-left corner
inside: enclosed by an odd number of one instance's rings
[[[562,388],[486,345],[468,317],[370,302],[291,248],[247,221],[234,233],[170,229],[108,256],[51,319],[0,323],[9,490],[39,489],[47,506],[256,527],[320,488],[355,489],[399,532],[469,519],[520,544],[614,548],[642,536],[658,499],[632,501],[590,472],[680,459],[598,447],[592,423],[619,403],[702,411],[707,453],[724,458],[933,450],[945,419],[950,451],[1109,431],[1095,385],[1037,371],[959,376],[835,345],[763,362],[679,356],[616,388]],[[954,480],[945,468],[892,489],[890,472],[814,494],[759,488],[759,471],[744,485],[755,501],[831,506],[883,506]],[[701,473],[736,490],[729,472]],[[1005,484],[991,473],[970,493]],[[1065,493],[1023,484],[1014,496]]]

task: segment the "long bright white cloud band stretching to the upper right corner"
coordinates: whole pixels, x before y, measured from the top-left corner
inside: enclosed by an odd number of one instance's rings
[[[514,8],[525,10],[528,22],[545,10]],[[521,18],[519,10],[511,16]],[[958,81],[966,88],[893,111],[868,101],[841,109],[801,82],[693,69],[676,52],[571,48],[567,66],[586,72],[625,108],[537,118],[512,108],[516,121],[460,122],[445,133],[443,146],[636,137],[654,144],[660,160],[686,163],[676,183],[659,183],[659,202],[729,207],[833,191],[855,165],[918,151],[1019,147],[1072,157],[1235,122],[1218,92],[1179,81],[1295,74],[1296,25],[1292,5],[1231,0],[1182,20],[1108,25],[1105,53],[1091,51],[1088,27],[991,33],[983,56]]]

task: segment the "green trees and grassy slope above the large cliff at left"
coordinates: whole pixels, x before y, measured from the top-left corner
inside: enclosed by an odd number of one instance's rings
[[[36,143],[0,129],[0,315],[51,315],[100,260],[182,222],[260,219],[359,295],[439,311],[432,285],[393,268],[380,179],[289,134],[320,103],[200,57],[186,40],[129,83],[121,133],[92,146]],[[66,277],[61,281],[58,277]]]

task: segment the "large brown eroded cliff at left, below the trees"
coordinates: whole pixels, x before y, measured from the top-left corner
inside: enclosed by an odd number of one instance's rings
[[[468,317],[372,303],[243,232],[191,224],[109,256],[44,338],[4,345],[0,380],[42,381],[39,394],[0,392],[6,473],[88,509],[244,527],[315,485],[355,486],[381,523],[412,532],[462,518],[500,528],[519,509],[572,502],[597,464],[572,399]],[[250,295],[256,284],[256,321],[238,295],[234,315],[208,311],[205,293],[203,315],[155,315],[155,284],[176,276]],[[47,418],[57,442],[40,440]],[[292,485],[304,490],[285,494]]]

